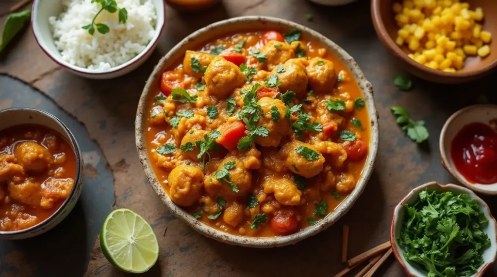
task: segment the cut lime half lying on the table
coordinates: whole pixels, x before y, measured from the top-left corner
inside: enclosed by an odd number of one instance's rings
[[[100,247],[112,265],[128,273],[146,272],[159,258],[154,230],[128,209],[117,209],[107,216],[100,231]]]

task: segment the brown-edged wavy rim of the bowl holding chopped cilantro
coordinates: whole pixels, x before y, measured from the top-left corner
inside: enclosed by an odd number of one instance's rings
[[[401,265],[401,267],[404,269],[404,271],[406,272],[406,274],[409,277],[417,277],[417,276],[414,275],[408,269],[408,267],[406,266],[406,264],[408,262],[406,261],[404,256],[402,256],[399,253],[399,246],[397,245],[397,238],[395,237],[395,229],[396,229],[397,224],[399,223],[398,222],[399,211],[402,209],[402,205],[404,205],[404,203],[407,203],[413,197],[416,197],[419,194],[419,192],[421,192],[422,190],[424,190],[427,187],[439,187],[441,190],[455,190],[455,191],[458,191],[461,193],[466,193],[468,195],[471,195],[474,199],[476,199],[476,201],[478,201],[478,204],[481,206],[480,207],[481,209],[487,210],[487,212],[489,213],[489,216],[490,216],[489,224],[494,223],[495,229],[497,230],[497,222],[496,222],[496,219],[494,218],[494,216],[492,215],[492,211],[490,210],[489,205],[487,205],[487,203],[485,201],[483,201],[483,199],[478,197],[478,195],[476,195],[476,193],[474,193],[473,191],[471,191],[465,187],[455,185],[455,184],[441,185],[435,181],[428,182],[428,183],[422,184],[422,185],[414,188],[413,190],[411,190],[408,193],[408,195],[406,195],[401,200],[401,202],[399,202],[399,204],[397,204],[397,206],[395,206],[395,208],[392,212],[392,222],[390,224],[390,244],[392,245],[392,251],[394,253],[395,258],[397,259],[397,261],[399,262],[399,264]],[[487,234],[487,235],[489,235],[489,237],[490,237],[490,234]],[[497,240],[497,233],[494,234],[494,237],[495,237],[495,240]],[[479,272],[477,272],[475,275],[472,275],[471,277],[482,277],[483,274],[494,264],[495,260],[496,260],[496,254],[494,254],[494,257],[491,261],[484,264],[482,269]]]

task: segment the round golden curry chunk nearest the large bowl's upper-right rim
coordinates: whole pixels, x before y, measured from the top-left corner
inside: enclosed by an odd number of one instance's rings
[[[307,66],[309,86],[317,93],[331,92],[336,84],[336,72],[332,61],[320,57],[309,60]]]

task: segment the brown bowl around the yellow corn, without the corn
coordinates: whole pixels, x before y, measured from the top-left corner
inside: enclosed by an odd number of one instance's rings
[[[372,0],[371,18],[376,30],[376,34],[383,46],[390,54],[394,55],[406,68],[414,75],[427,81],[460,84],[480,79],[490,74],[497,67],[497,5],[495,0],[467,0],[471,9],[482,7],[484,12],[483,30],[489,31],[493,35],[490,42],[490,55],[481,58],[480,56],[468,57],[464,63],[464,68],[459,72],[444,72],[424,66],[407,54],[410,53],[407,47],[399,47],[395,44],[399,26],[395,21],[395,13],[392,5],[399,0]]]

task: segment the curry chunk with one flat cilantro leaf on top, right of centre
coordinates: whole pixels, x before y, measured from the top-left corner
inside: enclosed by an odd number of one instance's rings
[[[302,148],[310,149],[310,151],[315,153],[313,155],[317,158],[314,159],[314,157],[306,157],[303,154],[298,153],[299,149]],[[285,157],[285,166],[292,170],[295,174],[311,178],[323,170],[325,158],[321,153],[319,153],[316,147],[310,144],[301,141],[291,141],[281,148],[280,153],[283,157]],[[313,159],[309,160],[309,158]]]

